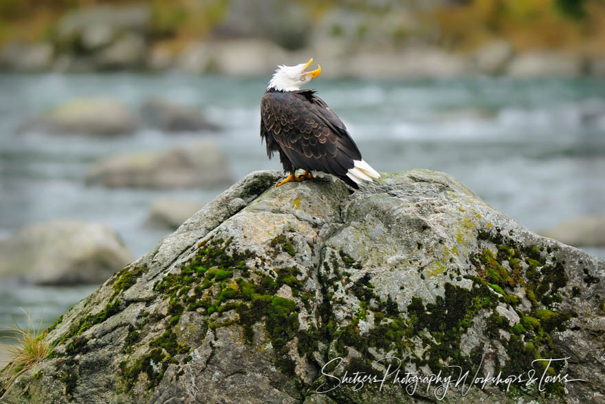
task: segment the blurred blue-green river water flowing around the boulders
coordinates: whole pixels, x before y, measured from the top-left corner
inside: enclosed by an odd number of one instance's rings
[[[104,222],[135,256],[166,231],[145,225],[160,197],[208,202],[222,189],[157,191],[86,187],[89,165],[114,153],[191,145],[212,136],[235,179],[267,160],[259,139],[259,100],[267,78],[176,74],[0,75],[0,238],[53,218]],[[492,206],[534,231],[570,217],[605,214],[605,81],[314,81],[347,124],[364,160],[378,171],[445,171]],[[17,134],[28,118],[83,96],[109,96],[134,110],[161,96],[205,111],[218,135],[91,138]],[[603,250],[591,253],[605,257]],[[0,328],[43,314],[52,323],[94,287],[0,286]]]

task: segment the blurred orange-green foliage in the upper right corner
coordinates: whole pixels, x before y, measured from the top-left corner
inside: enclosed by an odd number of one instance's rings
[[[506,39],[516,50],[603,52],[605,2],[600,0],[473,0],[425,14],[439,27],[439,43],[472,48]]]

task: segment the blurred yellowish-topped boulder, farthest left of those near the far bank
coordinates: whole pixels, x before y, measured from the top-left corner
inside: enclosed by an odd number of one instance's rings
[[[113,136],[131,134],[139,121],[126,105],[111,98],[78,98],[21,125],[19,131]]]

